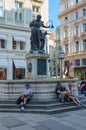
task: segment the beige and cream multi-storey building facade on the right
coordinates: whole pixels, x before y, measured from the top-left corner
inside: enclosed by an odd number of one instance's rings
[[[58,18],[65,52],[63,71],[86,79],[86,0],[61,0]]]

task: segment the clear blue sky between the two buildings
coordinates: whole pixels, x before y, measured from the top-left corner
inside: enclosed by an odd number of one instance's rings
[[[58,20],[59,3],[60,0],[49,0],[49,20],[53,21],[54,29],[51,30],[53,33],[55,33],[56,27],[60,24]]]

